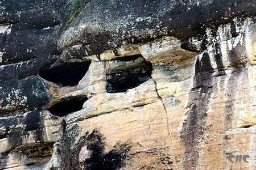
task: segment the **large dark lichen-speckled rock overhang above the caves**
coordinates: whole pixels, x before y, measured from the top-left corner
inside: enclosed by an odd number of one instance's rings
[[[254,15],[253,3],[254,0],[92,0],[62,35],[59,49],[83,44],[84,51],[91,55],[125,43],[146,42],[167,35],[184,40],[200,37],[206,27],[229,23],[234,16]]]

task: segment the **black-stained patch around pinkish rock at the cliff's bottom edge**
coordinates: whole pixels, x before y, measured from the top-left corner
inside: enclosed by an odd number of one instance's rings
[[[73,151],[70,139],[64,139],[63,169],[118,169],[125,165],[130,150],[127,143],[117,143],[105,152],[104,137],[97,129],[86,135]]]

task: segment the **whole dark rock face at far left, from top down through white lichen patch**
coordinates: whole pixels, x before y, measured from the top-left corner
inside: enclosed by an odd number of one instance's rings
[[[37,108],[50,95],[36,74],[56,61],[57,40],[70,3],[5,1],[1,8],[0,26],[7,31],[0,32],[0,112]]]

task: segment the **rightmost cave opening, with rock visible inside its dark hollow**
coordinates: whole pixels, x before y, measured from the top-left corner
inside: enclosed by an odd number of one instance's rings
[[[109,93],[126,92],[151,78],[152,63],[141,55],[115,59],[116,67],[110,66],[106,75],[106,90]]]

